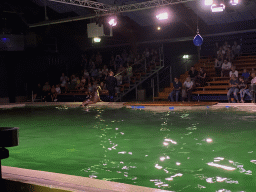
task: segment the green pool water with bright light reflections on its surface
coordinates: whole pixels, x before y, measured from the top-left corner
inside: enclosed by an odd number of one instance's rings
[[[256,116],[231,109],[25,107],[0,110],[19,127],[2,165],[170,191],[256,191]]]

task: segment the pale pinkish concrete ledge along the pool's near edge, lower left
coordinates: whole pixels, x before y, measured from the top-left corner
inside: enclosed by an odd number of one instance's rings
[[[128,185],[112,181],[104,181],[87,177],[22,169],[2,166],[3,179],[29,184],[31,188],[59,189],[65,191],[83,192],[161,192],[165,190],[153,189],[135,185]],[[8,183],[8,182],[7,182]],[[7,186],[8,187],[8,186]],[[19,190],[18,190],[19,191]],[[32,190],[31,190],[32,191]]]

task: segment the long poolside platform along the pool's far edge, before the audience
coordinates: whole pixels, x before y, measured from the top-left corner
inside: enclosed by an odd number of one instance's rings
[[[70,108],[81,107],[82,102],[26,102],[26,103],[0,103],[0,109],[10,109],[17,107],[40,107],[40,106],[66,106]],[[218,103],[218,102],[98,102],[90,104],[86,108],[128,108],[149,110],[153,112],[167,111],[193,111],[193,110],[216,110],[216,109],[234,109],[239,111],[256,112],[255,103]]]

